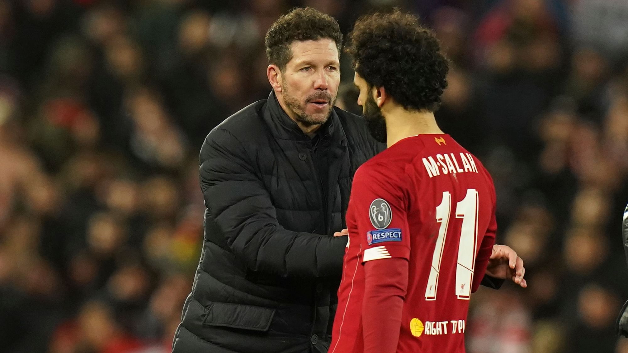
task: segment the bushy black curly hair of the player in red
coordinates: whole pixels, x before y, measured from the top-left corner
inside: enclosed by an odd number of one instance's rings
[[[416,16],[399,9],[363,16],[349,33],[346,52],[369,88],[384,87],[408,110],[440,107],[449,60]]]

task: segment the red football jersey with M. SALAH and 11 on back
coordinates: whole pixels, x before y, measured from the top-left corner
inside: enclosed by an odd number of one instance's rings
[[[447,134],[402,139],[356,171],[347,227],[329,352],[364,352],[365,317],[382,314],[364,300],[365,264],[396,258],[408,261],[396,352],[465,352],[468,300],[497,230],[495,188],[480,161]]]

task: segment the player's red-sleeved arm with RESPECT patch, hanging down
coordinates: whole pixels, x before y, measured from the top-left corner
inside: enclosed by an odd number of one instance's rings
[[[365,353],[396,352],[408,288],[410,242],[401,183],[374,168],[360,168],[353,195],[362,244]]]

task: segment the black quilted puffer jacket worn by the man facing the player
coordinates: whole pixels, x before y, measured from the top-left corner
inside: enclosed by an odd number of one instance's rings
[[[384,146],[338,108],[324,128],[327,188],[274,94],[207,136],[205,242],[174,352],[327,352],[346,244],[332,234],[345,227],[355,170]]]

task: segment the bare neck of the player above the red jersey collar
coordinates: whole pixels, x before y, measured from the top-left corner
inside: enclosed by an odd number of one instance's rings
[[[438,128],[433,112],[408,111],[395,105],[382,107],[382,114],[386,117],[386,144],[393,146],[404,138],[419,134],[442,134]]]

